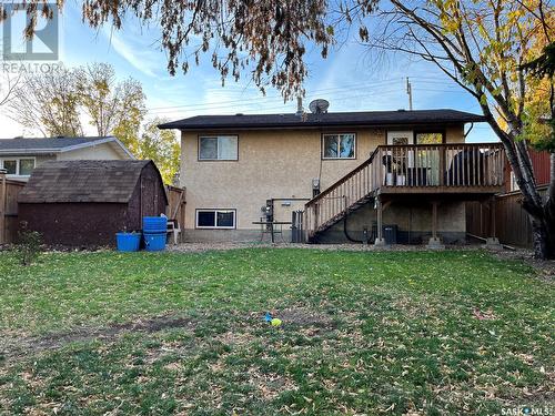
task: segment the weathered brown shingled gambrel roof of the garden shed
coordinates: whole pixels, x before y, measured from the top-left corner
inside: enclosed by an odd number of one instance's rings
[[[131,200],[141,171],[152,161],[46,162],[19,193],[21,203],[114,202]]]

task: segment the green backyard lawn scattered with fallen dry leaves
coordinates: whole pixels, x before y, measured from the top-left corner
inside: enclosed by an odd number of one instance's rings
[[[483,252],[0,253],[0,414],[555,406],[553,282]]]

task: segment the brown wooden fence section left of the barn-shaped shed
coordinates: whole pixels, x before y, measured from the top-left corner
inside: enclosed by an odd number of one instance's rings
[[[0,244],[13,243],[18,236],[18,195],[24,185],[0,172]]]

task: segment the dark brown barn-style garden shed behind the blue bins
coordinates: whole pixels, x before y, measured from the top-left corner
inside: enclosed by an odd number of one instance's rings
[[[20,192],[19,220],[44,243],[114,245],[115,233],[165,213],[168,196],[154,162],[58,161],[37,168]]]

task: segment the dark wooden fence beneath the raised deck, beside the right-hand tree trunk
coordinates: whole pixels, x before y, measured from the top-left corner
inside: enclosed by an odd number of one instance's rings
[[[542,195],[546,191],[546,186],[539,189]],[[532,226],[521,202],[519,192],[495,196],[495,234],[502,244],[531,248]],[[486,204],[466,203],[466,232],[484,239],[492,236],[491,213]]]

